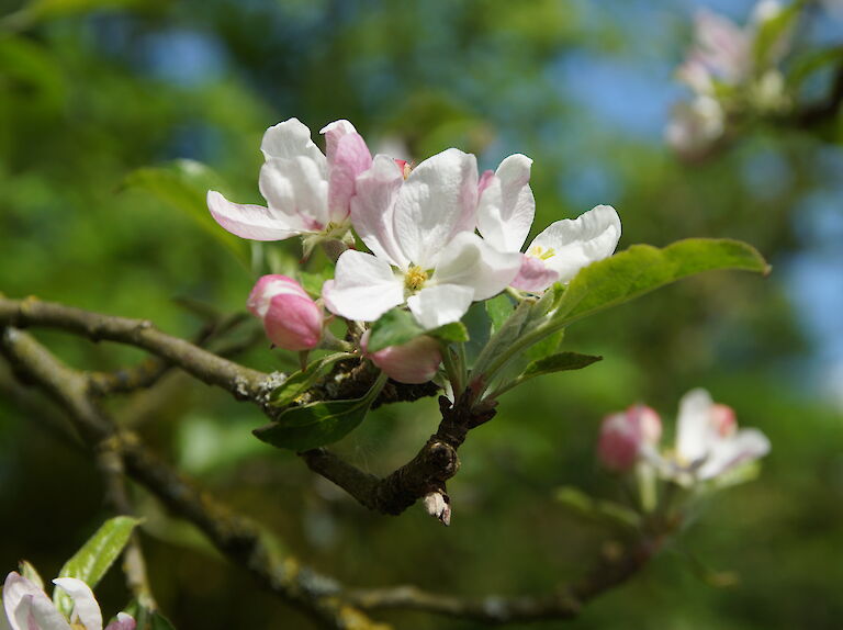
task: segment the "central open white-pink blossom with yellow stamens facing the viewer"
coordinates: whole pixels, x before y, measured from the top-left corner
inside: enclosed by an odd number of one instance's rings
[[[373,322],[406,304],[432,329],[503,291],[518,272],[520,255],[498,251],[474,234],[477,184],[476,159],[456,148],[409,173],[392,158],[375,156],[351,200],[355,230],[372,254],[342,252],[334,280],[323,286],[328,310]]]

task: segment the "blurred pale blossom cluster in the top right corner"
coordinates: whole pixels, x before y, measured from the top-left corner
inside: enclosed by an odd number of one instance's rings
[[[785,11],[777,0],[760,0],[744,27],[709,10],[697,13],[694,45],[676,72],[693,98],[674,108],[665,130],[681,156],[705,153],[727,132],[732,114],[763,115],[789,106],[778,69],[790,41]]]

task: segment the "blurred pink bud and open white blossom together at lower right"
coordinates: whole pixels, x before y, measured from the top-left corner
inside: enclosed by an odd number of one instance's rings
[[[769,451],[758,429],[739,429],[734,410],[715,403],[708,392],[693,390],[679,401],[676,438],[660,449],[662,423],[644,405],[607,416],[600,427],[597,454],[616,472],[649,469],[665,481],[690,487],[719,480]]]

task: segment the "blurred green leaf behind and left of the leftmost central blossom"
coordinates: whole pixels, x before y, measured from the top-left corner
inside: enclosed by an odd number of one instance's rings
[[[123,182],[128,190],[151,194],[191,217],[246,267],[251,263],[248,240],[223,229],[207,210],[207,191],[218,190],[218,177],[206,166],[193,160],[176,160],[166,167],[142,168],[131,172]]]

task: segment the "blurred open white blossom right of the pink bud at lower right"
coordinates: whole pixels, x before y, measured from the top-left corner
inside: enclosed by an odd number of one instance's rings
[[[767,452],[769,440],[764,434],[739,430],[734,412],[697,389],[679,401],[675,449],[654,453],[651,459],[661,476],[687,486],[712,480]]]

